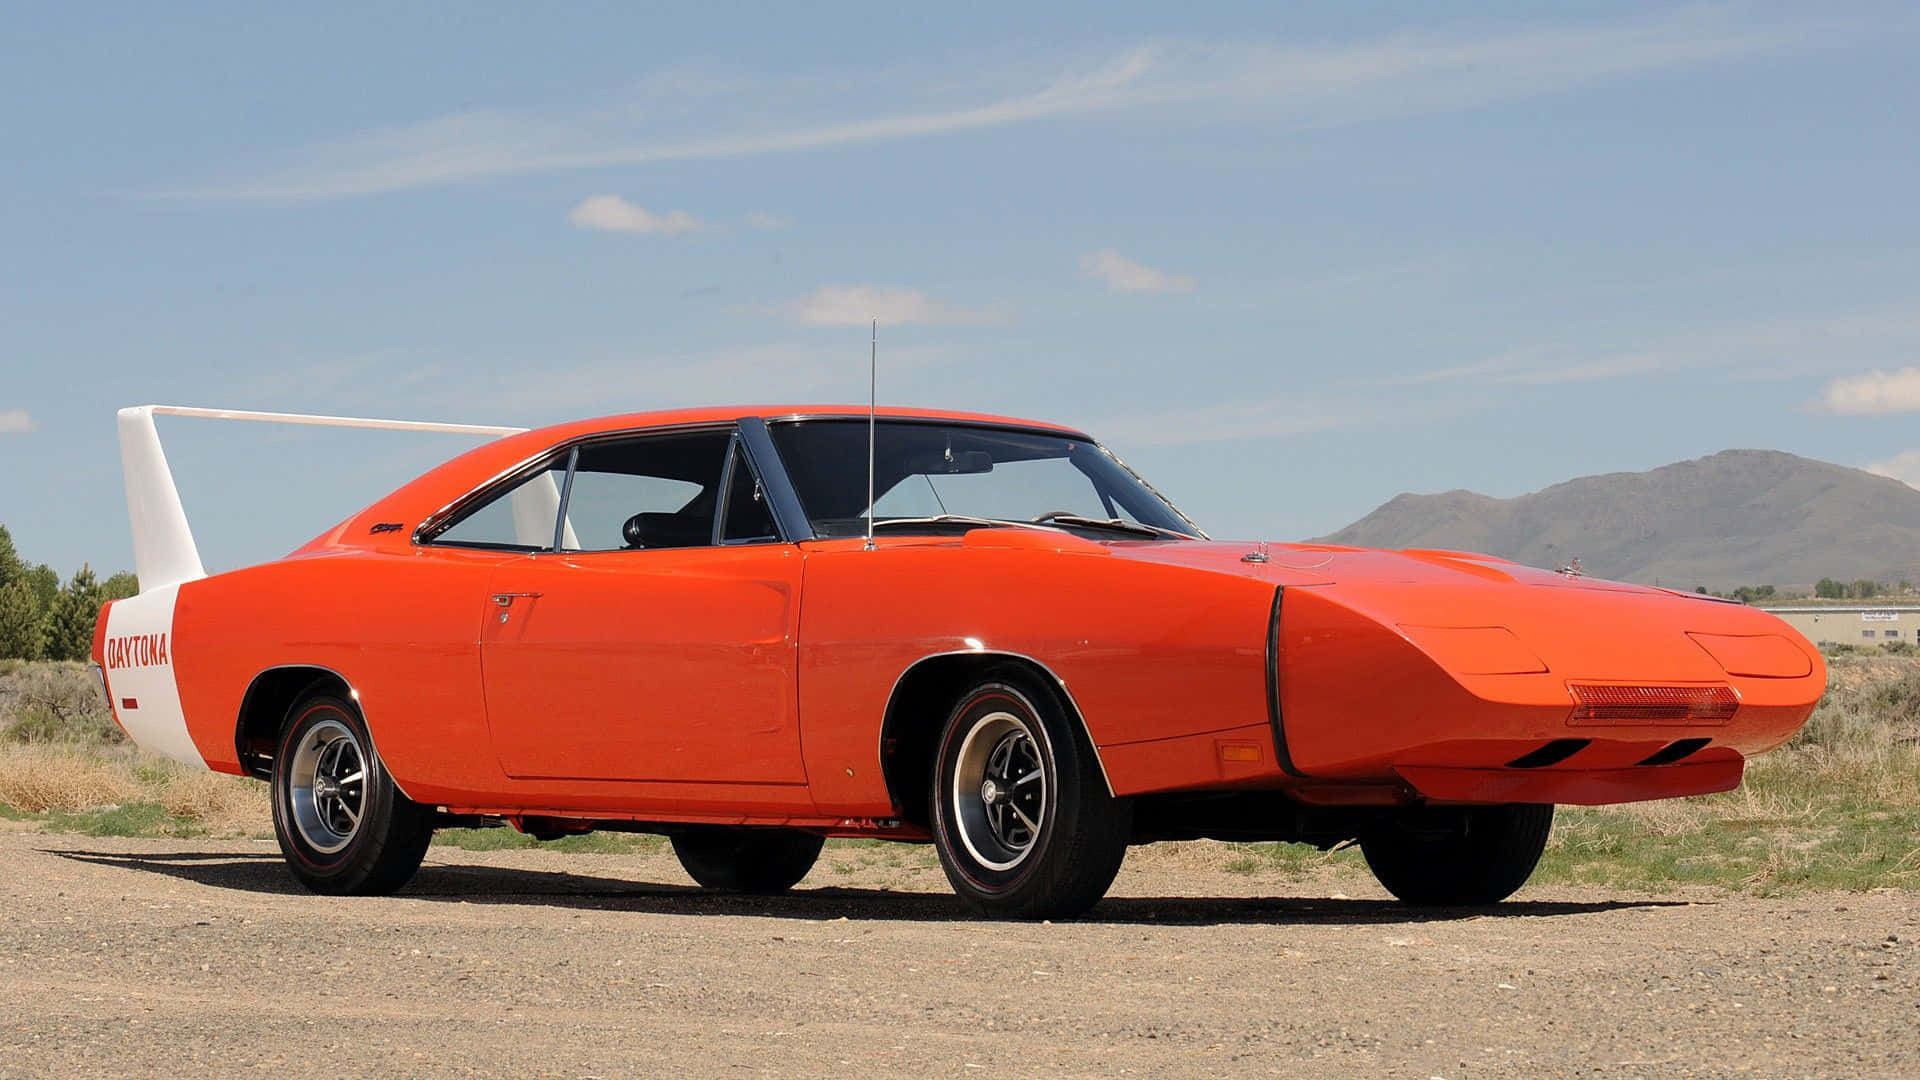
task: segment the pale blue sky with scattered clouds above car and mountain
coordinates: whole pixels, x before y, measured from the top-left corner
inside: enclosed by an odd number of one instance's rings
[[[0,525],[131,567],[134,404],[1091,430],[1213,536],[1726,448],[1920,484],[1920,10],[40,4]],[[161,419],[209,569],[470,438]]]

